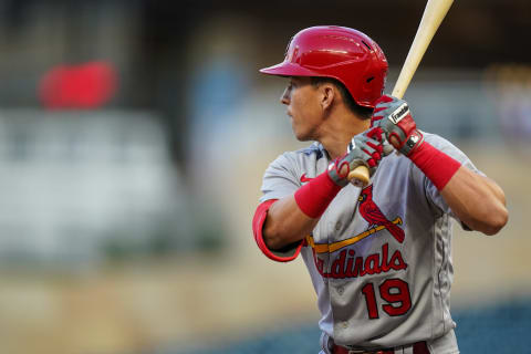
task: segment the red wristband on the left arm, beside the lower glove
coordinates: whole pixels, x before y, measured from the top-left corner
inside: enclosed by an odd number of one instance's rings
[[[299,188],[294,197],[302,212],[316,219],[323,215],[340,190],[341,186],[337,186],[330,178],[329,173],[324,171]]]

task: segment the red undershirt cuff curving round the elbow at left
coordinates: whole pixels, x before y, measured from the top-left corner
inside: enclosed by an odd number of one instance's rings
[[[266,217],[268,216],[268,210],[271,207],[271,205],[277,200],[278,199],[266,200],[264,202],[258,206],[257,211],[254,211],[254,217],[252,218],[252,233],[254,233],[254,241],[257,241],[258,248],[269,259],[272,259],[273,261],[277,261],[277,262],[289,262],[294,260],[299,256],[304,244],[304,240],[295,242],[281,251],[274,251],[274,250],[270,250],[266,246],[266,242],[263,241],[263,236],[262,236],[263,222],[266,221]]]

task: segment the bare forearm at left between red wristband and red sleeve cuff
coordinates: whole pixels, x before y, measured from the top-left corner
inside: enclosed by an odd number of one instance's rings
[[[288,196],[269,208],[262,229],[263,241],[271,250],[281,249],[310,235],[317,221],[319,218],[302,212],[293,195]]]

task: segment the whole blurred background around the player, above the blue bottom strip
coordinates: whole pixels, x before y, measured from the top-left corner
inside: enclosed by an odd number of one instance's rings
[[[303,28],[346,25],[387,54],[391,92],[424,8],[0,1],[0,353],[180,353],[316,327],[302,262],[267,260],[251,233],[264,169],[304,145],[284,81],[258,69]],[[456,227],[458,313],[531,299],[530,28],[527,0],[456,1],[405,95],[507,194],[499,236]]]

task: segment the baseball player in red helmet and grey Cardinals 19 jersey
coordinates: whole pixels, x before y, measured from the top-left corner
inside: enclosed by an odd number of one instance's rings
[[[387,61],[360,31],[302,30],[284,61],[261,72],[288,79],[281,102],[293,133],[314,143],[268,167],[253,233],[274,261],[302,254],[321,353],[458,353],[451,219],[497,233],[508,220],[501,188],[417,129],[405,101],[382,96]],[[360,165],[366,187],[348,180]]]

